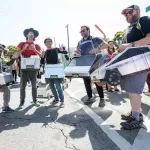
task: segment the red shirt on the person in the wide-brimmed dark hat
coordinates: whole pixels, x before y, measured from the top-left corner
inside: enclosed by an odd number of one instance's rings
[[[22,55],[24,55],[24,56],[36,55],[36,53],[34,52],[34,50],[31,49],[31,47],[30,47],[30,45],[34,44],[33,42],[21,42],[21,43],[18,44],[17,47],[20,50],[22,50],[25,44],[29,44],[29,47],[22,53]],[[35,44],[35,47],[36,47],[36,50],[40,52],[41,47],[38,44]]]

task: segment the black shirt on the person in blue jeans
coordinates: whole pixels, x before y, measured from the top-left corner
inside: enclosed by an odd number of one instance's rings
[[[45,59],[47,64],[58,63],[58,53],[67,54],[67,51],[60,51],[59,48],[48,49],[45,52]]]

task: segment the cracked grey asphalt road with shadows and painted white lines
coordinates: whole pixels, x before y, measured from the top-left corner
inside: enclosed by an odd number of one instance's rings
[[[94,90],[95,91],[95,90]],[[33,106],[31,87],[26,89],[23,110],[0,113],[0,150],[149,150],[150,97],[143,95],[142,113],[147,129],[123,130],[121,113],[130,111],[126,93],[105,93],[106,106],[85,106],[82,80],[74,79],[65,91],[65,108],[38,99]],[[12,108],[19,105],[19,86],[11,89]],[[2,94],[0,94],[2,106]],[[0,110],[1,111],[1,110]]]

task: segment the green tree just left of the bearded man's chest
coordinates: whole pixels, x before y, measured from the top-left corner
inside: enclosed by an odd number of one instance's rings
[[[114,35],[113,41],[117,49],[119,48],[119,44],[121,43],[122,37],[124,36],[125,32],[126,30],[119,31]]]

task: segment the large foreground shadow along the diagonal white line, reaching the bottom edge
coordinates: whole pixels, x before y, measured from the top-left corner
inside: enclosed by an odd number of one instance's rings
[[[109,116],[110,114],[106,115],[106,119]],[[69,133],[69,136],[72,139],[80,139],[88,136],[93,150],[119,150],[119,148],[109,139],[107,134],[103,132],[83,109],[64,115],[58,118],[57,122],[74,127]]]

